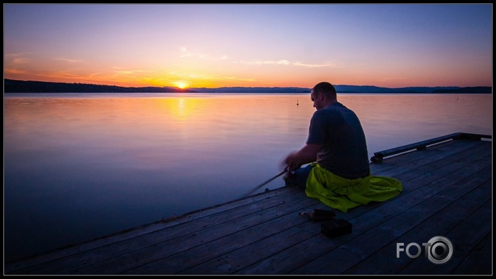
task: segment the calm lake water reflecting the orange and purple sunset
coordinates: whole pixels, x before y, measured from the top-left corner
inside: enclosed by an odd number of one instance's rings
[[[361,118],[369,158],[492,135],[490,94],[338,98]],[[314,111],[309,94],[4,94],[5,258],[239,198],[282,171]]]

